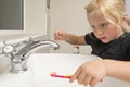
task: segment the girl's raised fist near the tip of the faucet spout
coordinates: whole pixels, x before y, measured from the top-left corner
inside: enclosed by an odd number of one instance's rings
[[[63,32],[63,30],[56,30],[54,33],[54,39],[55,40],[65,40],[65,38],[66,38],[66,33],[65,32]]]

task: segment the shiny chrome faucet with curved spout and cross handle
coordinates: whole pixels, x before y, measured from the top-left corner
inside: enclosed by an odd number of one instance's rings
[[[23,45],[18,46],[18,50],[16,50],[17,47],[14,47],[12,45],[6,45],[3,48],[3,53],[10,54],[11,72],[21,73],[28,69],[27,59],[29,58],[30,54],[42,48],[48,48],[48,47],[51,47],[54,50],[60,48],[60,46],[54,41],[37,40],[37,41],[28,41],[26,45],[23,42]],[[10,51],[5,51],[5,49],[10,49]]]

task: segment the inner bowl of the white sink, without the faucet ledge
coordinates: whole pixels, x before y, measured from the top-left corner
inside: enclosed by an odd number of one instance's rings
[[[70,84],[67,78],[51,77],[50,73],[73,74],[81,63],[90,60],[81,54],[34,54],[28,65],[34,72],[37,87],[83,87],[77,82]]]

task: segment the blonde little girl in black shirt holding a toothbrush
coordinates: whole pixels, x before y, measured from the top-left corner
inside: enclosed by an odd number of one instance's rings
[[[94,87],[105,76],[130,80],[130,27],[122,0],[92,0],[86,10],[92,33],[76,36],[56,30],[54,38],[72,45],[90,45],[91,53],[104,60],[83,63],[70,82],[77,79]]]

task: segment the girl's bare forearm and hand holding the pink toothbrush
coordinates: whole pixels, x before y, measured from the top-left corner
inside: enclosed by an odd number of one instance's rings
[[[94,87],[105,76],[130,82],[130,62],[115,60],[100,60],[83,63],[70,78],[70,83],[77,80],[79,84]]]

